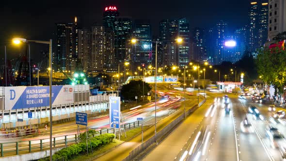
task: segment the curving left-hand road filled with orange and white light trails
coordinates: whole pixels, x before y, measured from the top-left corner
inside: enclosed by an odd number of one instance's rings
[[[165,97],[163,97],[165,96]],[[168,96],[170,96],[168,98]],[[189,98],[194,97],[194,96],[189,96]],[[192,98],[191,98],[192,99]],[[176,97],[175,93],[171,94],[164,94],[160,92],[159,98],[158,98],[158,103],[157,103],[157,120],[160,121],[167,116],[175,113],[176,111],[179,110],[178,107],[181,106],[181,102],[184,99],[181,97]],[[194,104],[194,103],[193,103]],[[155,118],[155,104],[154,102],[147,103],[146,105],[143,106],[137,106],[132,108],[131,110],[126,110],[122,112],[122,118],[124,124],[128,123],[133,123],[137,120],[137,117],[143,117],[144,119],[144,125],[145,126],[152,126],[154,124],[154,118]],[[132,126],[131,126],[132,127]],[[84,130],[83,127],[81,127],[82,131]],[[109,116],[106,115],[101,115],[97,118],[90,119],[88,121],[88,128],[92,129],[106,129],[109,128]],[[71,134],[77,134],[77,125],[75,122],[69,122],[69,123],[64,123],[64,124],[58,124],[53,126],[53,137],[60,137],[64,135],[71,135]],[[27,149],[23,151],[19,151],[19,154],[22,153],[27,153],[28,147],[29,147],[29,142],[32,141],[32,148],[34,147],[32,151],[39,151],[39,141],[40,139],[46,139],[43,141],[43,143],[48,142],[49,138],[49,129],[40,129],[40,134],[37,136],[29,137],[29,138],[0,138],[1,143],[7,143],[3,144],[3,149],[4,149],[4,156],[8,155],[15,155],[15,152],[8,152],[5,153],[5,151],[10,151],[10,150],[15,150],[15,143],[11,142],[16,142],[16,141],[22,141],[19,143],[19,149]],[[37,141],[36,141],[37,140]],[[25,142],[26,141],[26,142]],[[38,147],[38,148],[37,148]],[[45,149],[45,148],[44,148]]]

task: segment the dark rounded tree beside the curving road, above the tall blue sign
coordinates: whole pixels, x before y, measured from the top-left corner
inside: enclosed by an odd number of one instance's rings
[[[144,82],[145,96],[151,89],[151,86]],[[125,100],[135,100],[135,96],[141,98],[141,96],[143,96],[143,81],[130,81],[128,84],[124,84],[121,89],[121,94]]]

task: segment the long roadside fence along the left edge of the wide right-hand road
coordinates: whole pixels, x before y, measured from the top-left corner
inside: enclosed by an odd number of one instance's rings
[[[189,109],[188,111],[186,111],[186,116],[190,115],[191,113],[193,113],[198,107],[200,107],[203,103],[206,102],[206,99],[204,99],[202,102],[199,103],[198,105],[194,105],[191,109]],[[163,128],[162,130],[160,130],[157,133],[157,138],[161,138],[162,136],[164,136],[167,132],[169,132],[170,130],[172,130],[175,125],[177,125],[179,122],[181,122],[184,119],[184,114],[181,114],[180,116],[178,116],[172,123],[170,123],[169,125],[167,125],[165,128]],[[145,149],[147,149],[150,145],[152,145],[153,143],[155,143],[155,136],[151,137],[150,139],[148,139],[147,141],[145,141],[143,144],[137,146],[134,150],[132,150],[129,155],[122,161],[132,161],[133,159],[135,159],[140,153],[142,153]]]

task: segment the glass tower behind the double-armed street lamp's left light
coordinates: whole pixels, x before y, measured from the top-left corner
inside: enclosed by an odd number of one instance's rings
[[[137,39],[135,45],[135,65],[151,64],[152,61],[152,35],[149,20],[135,20],[134,38]]]

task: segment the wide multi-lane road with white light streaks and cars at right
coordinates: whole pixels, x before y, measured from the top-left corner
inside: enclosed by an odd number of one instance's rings
[[[281,153],[278,148],[271,147],[266,128],[272,125],[286,134],[286,122],[269,121],[273,113],[268,112],[268,104],[253,103],[250,97],[240,99],[229,94],[228,114],[227,107],[223,106],[225,94],[207,95],[207,102],[143,161],[281,161]],[[264,120],[254,119],[248,112],[250,105],[257,107]],[[253,127],[252,133],[242,132],[240,128],[246,117]]]

